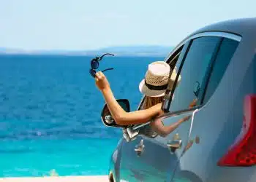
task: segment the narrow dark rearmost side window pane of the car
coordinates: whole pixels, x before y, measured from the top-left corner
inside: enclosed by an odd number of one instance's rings
[[[238,47],[239,42],[232,39],[224,39],[222,41],[222,45],[217,54],[217,58],[214,63],[213,70],[211,72],[211,77],[208,82],[208,87],[206,90],[206,95],[204,98],[204,102],[206,102],[211,95],[213,95],[214,91],[217,89],[219,82],[224,75],[228,64],[230,63],[233,54]]]

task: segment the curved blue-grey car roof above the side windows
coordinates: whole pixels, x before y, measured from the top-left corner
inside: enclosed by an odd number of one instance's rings
[[[256,17],[226,20],[214,23],[200,28],[189,36],[208,31],[222,31],[237,34],[239,36],[256,36]]]

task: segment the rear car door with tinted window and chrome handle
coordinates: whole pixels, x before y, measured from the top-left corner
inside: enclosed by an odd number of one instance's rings
[[[173,90],[166,92],[167,101],[163,104],[163,109],[169,111],[162,119],[165,126],[190,116],[186,122],[181,123],[176,130],[170,132],[166,137],[167,146],[170,151],[173,151],[173,155],[177,159],[180,159],[193,144],[189,138],[193,116],[203,100],[208,74],[222,44],[222,38],[219,36],[200,36],[189,42],[187,55],[183,60],[176,63],[176,68],[178,68],[176,79],[180,76],[181,81],[175,85],[176,87],[173,87]],[[191,106],[195,99],[197,100],[196,105]],[[176,164],[178,166],[178,162]],[[177,167],[176,170],[178,170]],[[173,168],[170,168],[169,172],[166,177],[167,181],[171,181],[173,178]]]

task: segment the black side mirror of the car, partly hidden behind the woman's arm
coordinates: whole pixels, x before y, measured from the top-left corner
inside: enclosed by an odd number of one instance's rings
[[[119,105],[122,108],[124,108],[124,111],[127,111],[127,112],[130,111],[129,100],[127,100],[127,99],[117,99],[116,101],[119,103]],[[102,109],[101,118],[102,118],[103,124],[105,124],[105,126],[107,126],[107,127],[125,127],[125,126],[120,126],[120,125],[116,124],[115,120],[111,116],[111,113],[108,109],[107,104],[105,104],[105,106]]]

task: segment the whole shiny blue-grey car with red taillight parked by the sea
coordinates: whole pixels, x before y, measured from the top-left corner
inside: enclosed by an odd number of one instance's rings
[[[255,182],[255,52],[256,18],[207,25],[182,40],[165,58],[181,82],[166,90],[160,117],[165,125],[190,119],[168,135],[158,135],[149,122],[118,126],[105,106],[102,122],[124,133],[109,180]],[[129,111],[129,100],[118,103]]]

